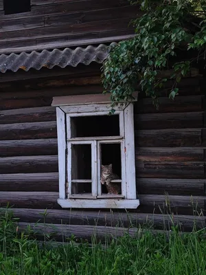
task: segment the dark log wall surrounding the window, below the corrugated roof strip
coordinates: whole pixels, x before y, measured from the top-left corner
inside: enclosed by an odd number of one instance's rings
[[[123,226],[179,222],[205,226],[205,96],[202,78],[186,78],[179,96],[144,96],[135,104],[135,156],[140,206],[125,213],[62,210],[58,198],[56,110],[53,96],[102,92],[100,65],[8,72],[0,78],[0,203],[25,223]],[[20,80],[23,79],[23,80]],[[169,213],[169,214],[168,214]],[[89,228],[91,230],[91,228]],[[74,230],[74,232],[76,232]],[[79,236],[84,227],[78,228]],[[90,232],[90,231],[89,231]]]

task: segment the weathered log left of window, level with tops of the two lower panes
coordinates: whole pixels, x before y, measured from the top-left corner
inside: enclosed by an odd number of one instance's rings
[[[0,157],[57,155],[57,139],[0,140]]]

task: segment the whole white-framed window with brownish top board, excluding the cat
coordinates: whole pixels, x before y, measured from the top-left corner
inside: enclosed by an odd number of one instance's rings
[[[108,115],[108,95],[54,98],[62,208],[137,208],[133,103]],[[101,184],[102,168],[113,171]],[[104,174],[107,178],[107,175]]]

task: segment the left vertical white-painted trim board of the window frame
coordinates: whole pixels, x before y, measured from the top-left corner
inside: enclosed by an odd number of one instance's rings
[[[66,129],[65,129],[65,113],[56,107],[57,136],[58,136],[58,181],[59,181],[59,197],[66,197]]]

